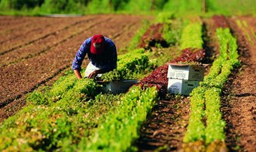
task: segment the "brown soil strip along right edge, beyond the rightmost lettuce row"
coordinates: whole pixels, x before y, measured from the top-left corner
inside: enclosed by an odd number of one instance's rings
[[[239,27],[237,20],[246,21]],[[256,151],[256,18],[230,18],[230,27],[238,38],[242,66],[236,70],[224,91],[222,105],[226,120],[226,143],[231,151]],[[250,33],[250,38],[246,33]]]

